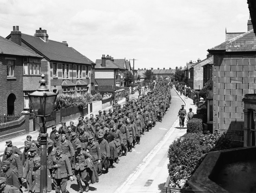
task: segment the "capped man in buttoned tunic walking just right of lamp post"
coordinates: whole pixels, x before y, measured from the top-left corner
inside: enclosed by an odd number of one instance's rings
[[[73,147],[72,147],[73,148]],[[56,155],[53,157],[52,161],[52,178],[55,191],[59,193],[69,193],[67,188],[67,178],[72,181],[72,167],[69,162],[67,155],[62,154],[62,149],[60,146],[56,147]]]

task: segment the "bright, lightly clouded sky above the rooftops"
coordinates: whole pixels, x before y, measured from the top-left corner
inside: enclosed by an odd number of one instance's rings
[[[248,19],[246,0],[1,0],[0,36],[41,27],[94,62],[104,54],[167,69],[203,60]]]

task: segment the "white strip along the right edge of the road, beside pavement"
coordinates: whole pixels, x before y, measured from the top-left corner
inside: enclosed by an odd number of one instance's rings
[[[148,155],[142,160],[141,164],[135,169],[133,173],[125,180],[125,182],[116,189],[115,193],[124,193],[130,187],[130,185],[139,177],[141,172],[146,168],[146,166],[150,163],[150,160],[158,153],[161,147],[165,144],[168,138],[176,129],[176,125],[179,123],[179,118],[173,123],[169,131],[165,134],[163,139],[148,153]]]

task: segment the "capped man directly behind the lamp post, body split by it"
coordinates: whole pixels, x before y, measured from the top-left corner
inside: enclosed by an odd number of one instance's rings
[[[40,167],[41,167],[41,158],[36,157],[33,160],[34,167],[32,169],[32,187],[31,191],[32,193],[40,193]],[[47,192],[52,191],[52,178],[49,169],[46,169],[47,171]]]

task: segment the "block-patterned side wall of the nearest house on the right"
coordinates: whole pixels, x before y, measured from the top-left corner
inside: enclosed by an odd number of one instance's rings
[[[243,140],[243,102],[245,94],[256,88],[255,55],[214,55],[213,59],[213,131]]]

